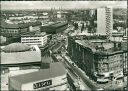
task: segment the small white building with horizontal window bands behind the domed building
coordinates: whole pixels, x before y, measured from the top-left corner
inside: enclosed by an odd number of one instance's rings
[[[44,46],[47,43],[47,35],[42,32],[41,34],[25,34],[21,36],[21,43],[27,45]]]

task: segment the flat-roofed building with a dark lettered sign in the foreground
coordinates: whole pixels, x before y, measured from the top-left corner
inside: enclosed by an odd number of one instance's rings
[[[9,90],[66,90],[67,73],[64,66],[51,63],[50,68],[9,77]]]

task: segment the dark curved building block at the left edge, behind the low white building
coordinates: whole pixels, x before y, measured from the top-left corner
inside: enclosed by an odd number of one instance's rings
[[[13,24],[1,21],[1,35],[5,37],[20,37],[21,34],[40,31],[41,25],[41,22]]]

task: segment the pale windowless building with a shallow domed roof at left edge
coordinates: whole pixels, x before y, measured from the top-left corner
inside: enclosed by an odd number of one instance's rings
[[[12,43],[1,48],[1,66],[16,66],[41,62],[41,51],[38,46]]]

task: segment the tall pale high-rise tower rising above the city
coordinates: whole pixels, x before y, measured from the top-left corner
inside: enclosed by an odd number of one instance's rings
[[[97,9],[97,33],[107,35],[110,38],[113,30],[113,9],[102,7]]]

